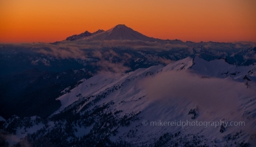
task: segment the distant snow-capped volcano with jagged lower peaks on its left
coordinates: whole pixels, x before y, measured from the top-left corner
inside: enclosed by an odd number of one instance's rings
[[[99,29],[96,32],[83,32],[80,35],[72,35],[66,38],[66,40],[142,40],[142,41],[155,41],[156,38],[142,35],[139,32],[134,31],[125,24],[118,24],[107,31]]]

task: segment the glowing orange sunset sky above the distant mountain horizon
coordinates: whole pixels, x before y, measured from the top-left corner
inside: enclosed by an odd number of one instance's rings
[[[149,37],[256,42],[255,0],[0,0],[0,42],[54,42],[125,24]]]

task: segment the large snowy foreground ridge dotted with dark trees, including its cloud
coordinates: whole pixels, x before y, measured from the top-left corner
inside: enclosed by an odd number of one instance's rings
[[[255,146],[255,69],[188,57],[98,74],[47,120],[13,116],[3,130],[10,145]]]

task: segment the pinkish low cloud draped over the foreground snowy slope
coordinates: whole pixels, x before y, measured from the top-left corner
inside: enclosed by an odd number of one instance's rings
[[[152,79],[146,79],[144,84],[153,101],[171,104],[181,98],[192,101],[201,110],[217,114],[237,111],[241,98],[256,96],[256,91],[246,88],[244,83],[229,79],[201,78],[185,71],[159,73]]]

